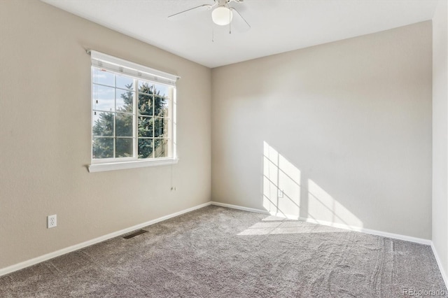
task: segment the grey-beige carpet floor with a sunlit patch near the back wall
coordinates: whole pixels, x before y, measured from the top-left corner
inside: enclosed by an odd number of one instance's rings
[[[448,297],[412,242],[218,206],[144,230],[2,276],[0,297]]]

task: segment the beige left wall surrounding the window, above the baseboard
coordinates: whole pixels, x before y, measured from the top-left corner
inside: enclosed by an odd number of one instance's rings
[[[182,77],[179,164],[87,172],[86,48]],[[210,201],[210,69],[40,1],[7,0],[0,84],[0,269]]]

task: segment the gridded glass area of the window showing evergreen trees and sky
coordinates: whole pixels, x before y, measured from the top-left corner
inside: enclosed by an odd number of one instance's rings
[[[102,66],[91,69],[93,159],[169,156],[175,87]]]

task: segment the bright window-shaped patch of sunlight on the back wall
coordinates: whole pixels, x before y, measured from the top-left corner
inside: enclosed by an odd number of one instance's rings
[[[263,142],[263,207],[274,216],[359,230],[363,222]]]

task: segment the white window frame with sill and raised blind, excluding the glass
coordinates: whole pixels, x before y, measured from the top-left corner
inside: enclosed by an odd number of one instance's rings
[[[135,64],[134,62],[129,62],[124,59],[113,57],[111,55],[106,55],[102,52],[97,52],[94,50],[87,50],[87,53],[91,55],[92,66],[105,69],[106,71],[111,71],[112,73],[123,74],[125,76],[132,77],[137,80],[149,81],[155,84],[171,85],[171,106],[169,107],[169,151],[171,153],[170,157],[158,157],[158,158],[148,158],[148,159],[138,159],[137,157],[137,132],[134,132],[134,157],[119,157],[119,158],[107,158],[107,159],[94,159],[93,158],[93,132],[92,124],[93,118],[91,116],[90,120],[90,165],[87,166],[90,173],[99,171],[113,171],[118,169],[134,169],[146,166],[161,166],[176,164],[179,161],[176,151],[176,81],[180,78],[179,76],[172,75],[171,73],[165,73],[158,71],[156,69],[151,69],[140,64]],[[90,82],[90,86],[93,85],[93,76]],[[138,89],[138,86],[134,86]],[[137,93],[134,93],[136,96]],[[93,90],[91,92],[90,101],[92,103],[92,108],[90,110],[91,115],[93,115],[94,104],[93,104]],[[137,123],[137,99],[134,99],[134,126]],[[135,127],[134,127],[135,128]],[[137,131],[137,129],[134,129]]]

